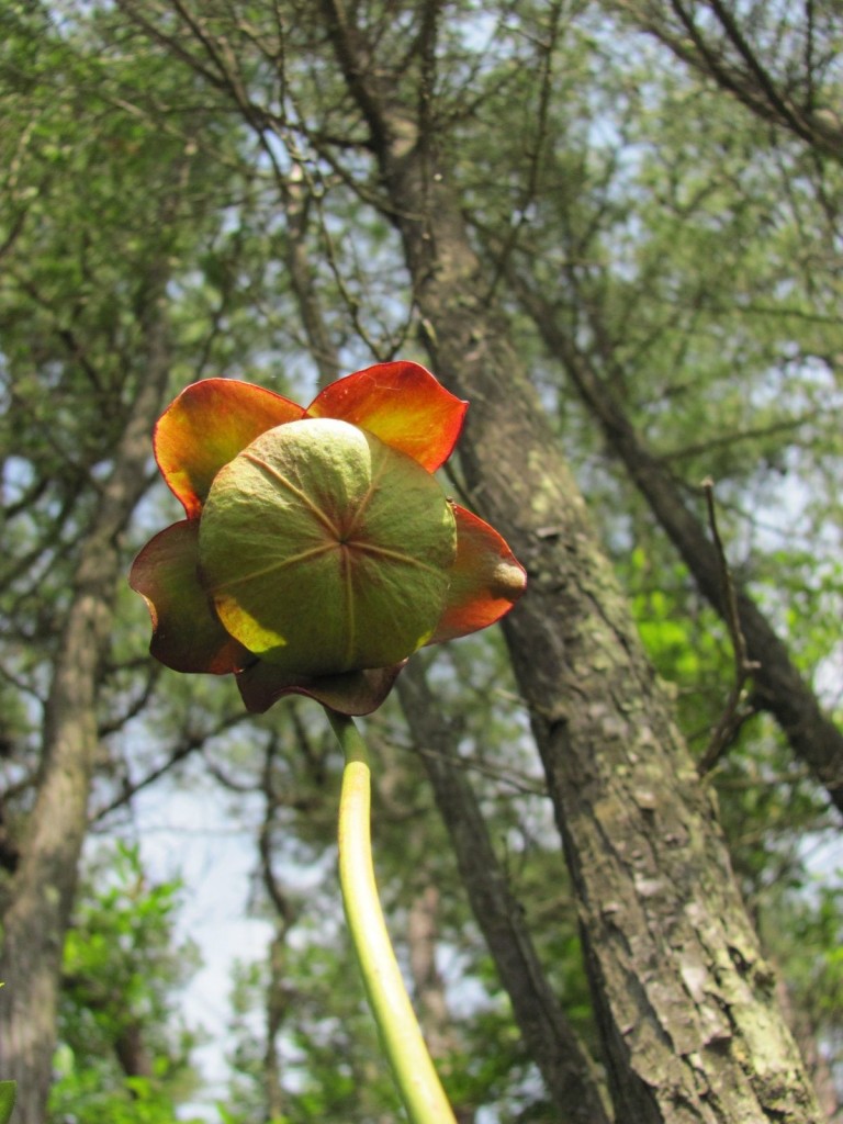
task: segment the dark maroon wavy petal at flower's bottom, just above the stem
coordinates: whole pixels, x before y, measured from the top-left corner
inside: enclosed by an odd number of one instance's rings
[[[252,714],[263,714],[284,695],[306,695],[338,714],[359,717],[378,709],[406,662],[342,676],[291,676],[260,660],[237,674],[237,686]]]

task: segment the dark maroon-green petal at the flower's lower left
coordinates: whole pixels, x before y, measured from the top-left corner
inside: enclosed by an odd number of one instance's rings
[[[197,577],[198,556],[199,520],[174,523],[137,555],[129,584],[149,609],[156,660],[174,671],[224,676],[253,656],[214,615]]]

